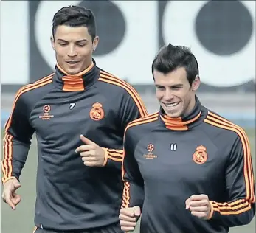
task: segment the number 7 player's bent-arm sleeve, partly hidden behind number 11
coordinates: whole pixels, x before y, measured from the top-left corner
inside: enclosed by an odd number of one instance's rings
[[[134,89],[133,89],[134,90]],[[145,117],[148,115],[148,111],[145,108],[139,94],[134,90],[132,94],[127,94],[122,97],[119,118],[120,118],[120,128],[123,133],[125,133],[126,126],[132,122],[134,119],[140,117]],[[104,166],[115,167],[121,170],[123,150],[103,148],[105,151],[105,161]]]

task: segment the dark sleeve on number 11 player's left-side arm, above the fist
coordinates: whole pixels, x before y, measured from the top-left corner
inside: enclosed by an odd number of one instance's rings
[[[124,181],[122,208],[139,206],[142,209],[144,181],[134,156],[136,145],[133,144],[136,144],[136,142],[133,141],[129,130],[127,130],[124,136],[124,158],[122,161],[122,180]]]

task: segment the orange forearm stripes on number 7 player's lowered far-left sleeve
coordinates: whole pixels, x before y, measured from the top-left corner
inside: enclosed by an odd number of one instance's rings
[[[5,133],[4,136],[4,158],[1,161],[3,178],[4,182],[7,178],[12,176],[13,167],[12,167],[12,159],[13,157],[13,136],[10,133]]]

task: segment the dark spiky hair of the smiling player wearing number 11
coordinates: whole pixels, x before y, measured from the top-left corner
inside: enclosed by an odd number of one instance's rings
[[[184,67],[186,70],[187,80],[191,86],[196,75],[199,75],[198,62],[195,56],[190,49],[185,46],[173,46],[172,44],[168,44],[160,49],[158,55],[154,58],[152,74],[154,70],[168,74],[180,67]]]

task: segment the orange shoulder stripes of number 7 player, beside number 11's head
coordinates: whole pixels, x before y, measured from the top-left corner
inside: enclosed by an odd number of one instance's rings
[[[128,93],[131,95],[134,102],[136,103],[137,107],[139,108],[139,113],[141,117],[145,117],[148,115],[148,111],[145,108],[145,105],[143,104],[142,99],[139,97],[139,94],[131,85],[129,85],[128,83],[126,83],[125,81],[121,80],[118,77],[114,77],[112,75],[110,76],[109,74],[107,73],[104,74],[104,73],[105,72],[101,72],[100,78],[99,78],[100,81],[105,81],[106,83],[111,83],[116,86],[125,88],[125,90],[128,91]]]

